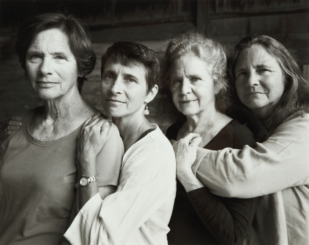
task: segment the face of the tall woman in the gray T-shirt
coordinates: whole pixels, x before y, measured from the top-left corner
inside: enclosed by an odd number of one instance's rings
[[[62,98],[78,91],[77,62],[66,34],[57,28],[39,32],[26,54],[26,71],[41,99]]]

